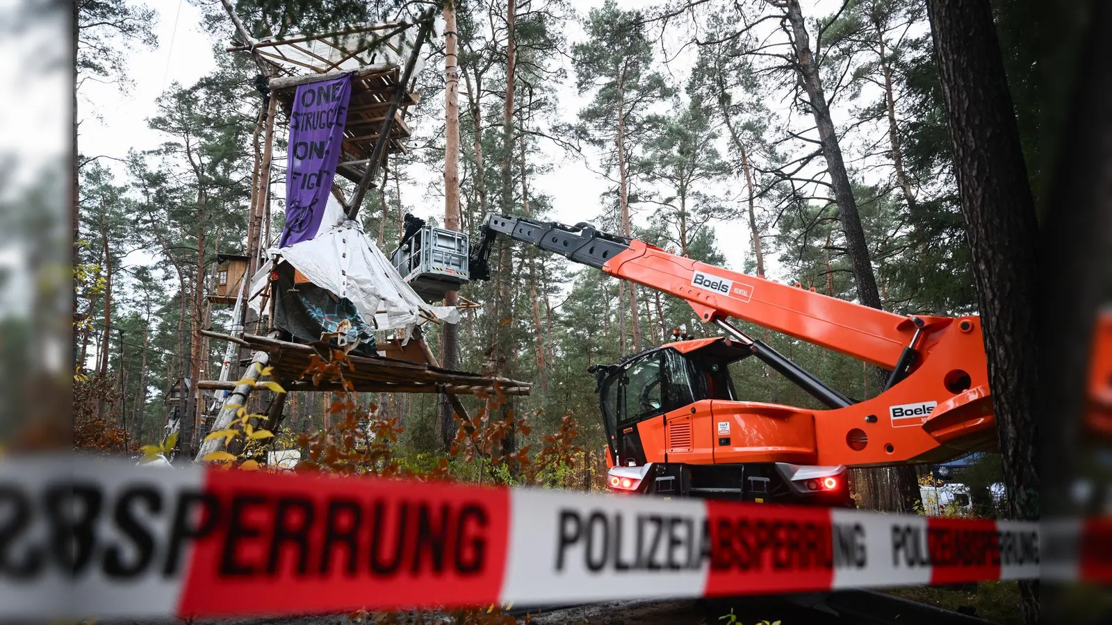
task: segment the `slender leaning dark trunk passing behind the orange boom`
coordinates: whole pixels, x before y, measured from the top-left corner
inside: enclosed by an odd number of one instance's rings
[[[831,118],[826,93],[823,91],[820,68],[815,65],[811,51],[811,38],[807,34],[803,11],[800,9],[798,0],[786,0],[785,9],[792,29],[792,43],[795,48],[795,69],[800,82],[807,92],[811,112],[818,129],[820,146],[823,158],[826,160],[826,171],[830,175],[834,201],[838,207],[838,220],[842,222],[842,232],[845,236],[846,254],[850,256],[850,266],[857,286],[857,299],[865,306],[882,308],[881,294],[876,288],[876,276],[873,274],[868,245],[865,241],[865,231],[861,226],[861,215],[857,212],[857,202],[853,197],[853,187],[850,185],[850,175],[846,172],[845,161],[842,158],[842,147],[838,145],[837,131]],[[887,380],[886,371],[874,367],[873,376],[877,389],[883,389]],[[911,512],[915,500],[919,499],[915,470],[909,466],[896,467],[894,470],[900,476],[897,482],[902,502],[897,512]]]

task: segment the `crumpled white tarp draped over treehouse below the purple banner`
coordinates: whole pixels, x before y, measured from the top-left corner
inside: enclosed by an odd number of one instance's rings
[[[329,197],[329,200],[334,198]],[[332,208],[332,201],[329,201],[329,211]],[[339,215],[342,216],[342,211]],[[348,298],[373,327],[379,330],[404,329],[404,339],[409,338],[414,327],[425,317],[448,324],[459,321],[457,308],[426,304],[401,279],[358,224],[340,221],[337,225],[330,212],[325,214],[316,238],[289,247],[270,248],[268,252],[272,259],[281,257],[281,260],[292,265],[314,285],[337,297]],[[254,292],[257,292],[256,282],[266,279],[266,274],[256,276],[251,280]],[[251,301],[256,310],[259,308],[258,299]]]

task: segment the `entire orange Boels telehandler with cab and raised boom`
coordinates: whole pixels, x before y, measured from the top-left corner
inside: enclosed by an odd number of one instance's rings
[[[637,239],[488,215],[471,249],[488,279],[499,234],[686,300],[727,337],[674,340],[592,367],[615,490],[751,502],[847,505],[846,467],[937,463],[996,448],[976,315],[900,316],[714,267]],[[872,399],[831,388],[728,319],[891,371]],[[825,410],[746,401],[727,366],[755,357]],[[742,383],[742,384],[738,384]]]

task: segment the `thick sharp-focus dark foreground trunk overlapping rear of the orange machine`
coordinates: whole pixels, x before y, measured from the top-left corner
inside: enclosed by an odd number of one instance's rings
[[[989,358],[989,385],[1014,518],[1039,516],[1039,222],[992,10],[987,2],[927,0],[954,171],[969,232]],[[1050,261],[1046,259],[1044,261]],[[1021,586],[1027,623],[1036,586]]]

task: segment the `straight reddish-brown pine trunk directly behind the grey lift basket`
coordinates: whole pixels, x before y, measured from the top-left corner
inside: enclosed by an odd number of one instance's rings
[[[444,227],[448,230],[459,229],[459,59],[456,56],[456,3],[446,0],[444,3],[444,109],[445,109],[445,147],[444,147]],[[445,306],[455,306],[459,301],[456,291],[448,291],[444,297]],[[455,369],[459,366],[459,329],[455,324],[444,324],[440,328],[440,366]],[[444,450],[451,447],[456,434],[456,420],[453,418],[451,404],[446,397],[440,398],[440,443]]]

